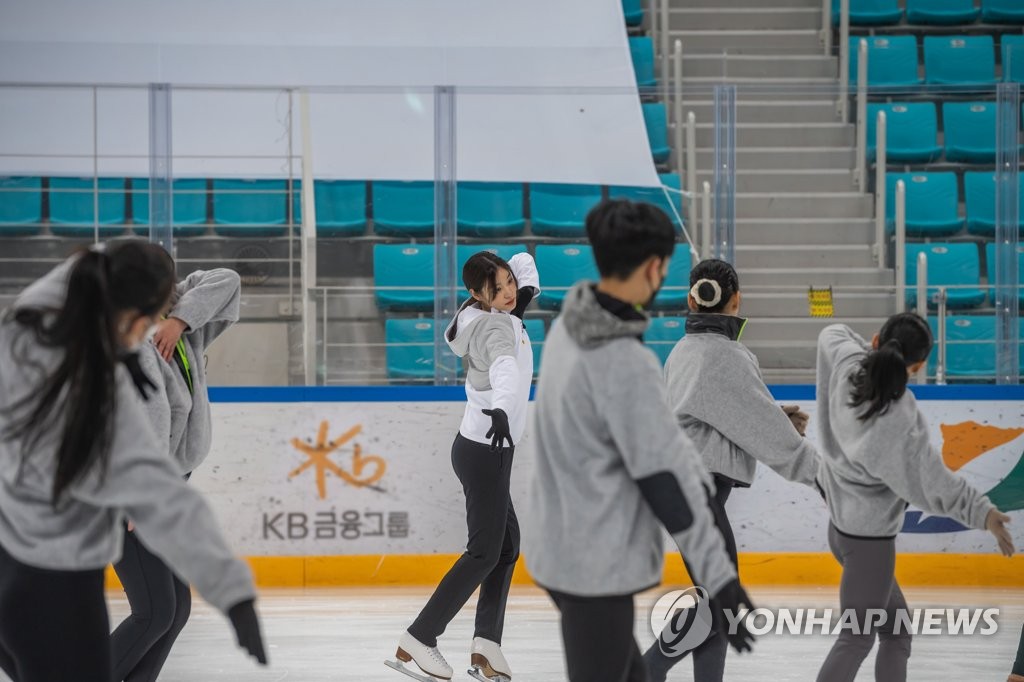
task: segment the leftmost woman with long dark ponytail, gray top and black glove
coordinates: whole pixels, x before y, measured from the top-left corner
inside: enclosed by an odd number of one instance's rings
[[[249,567],[143,406],[135,351],[173,267],[139,241],[87,250],[0,318],[0,668],[16,682],[112,679],[103,570],[126,515],[266,662]]]

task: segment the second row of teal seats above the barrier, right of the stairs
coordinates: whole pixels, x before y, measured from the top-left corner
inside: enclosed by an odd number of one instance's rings
[[[1016,247],[1018,260],[1018,297],[1024,305],[1024,244]],[[984,245],[985,263],[989,287],[981,286],[981,253],[973,243],[931,243],[906,245],[906,302],[914,306],[918,301],[918,256],[924,253],[928,258],[928,304],[936,307],[936,296],[940,287],[946,287],[946,300],[950,309],[976,308],[985,302],[994,305],[995,291],[995,245]]]

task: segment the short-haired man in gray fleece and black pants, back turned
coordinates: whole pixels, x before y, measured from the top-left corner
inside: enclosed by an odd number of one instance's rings
[[[561,612],[568,679],[634,682],[647,673],[633,596],[660,582],[663,527],[712,595],[719,631],[725,610],[751,602],[715,525],[711,476],[641,339],[643,307],[675,250],[672,222],[620,200],[596,206],[586,225],[601,280],[568,292],[545,346],[524,554]],[[737,625],[729,641],[749,649],[753,637]]]

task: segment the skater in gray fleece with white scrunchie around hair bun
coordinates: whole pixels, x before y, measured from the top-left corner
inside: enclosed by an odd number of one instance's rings
[[[736,565],[736,541],[725,512],[734,487],[750,487],[760,461],[787,480],[814,486],[818,454],[803,437],[807,415],[797,406],[779,409],[768,391],[757,357],[739,343],[746,321],[737,316],[741,294],[736,270],[709,259],[690,270],[686,336],[665,365],[669,402],[715,481],[712,507]],[[683,659],[669,645],[684,631],[677,613],[646,653],[649,682],[662,682]],[[693,677],[718,682],[725,674],[728,643],[710,637],[693,650]]]

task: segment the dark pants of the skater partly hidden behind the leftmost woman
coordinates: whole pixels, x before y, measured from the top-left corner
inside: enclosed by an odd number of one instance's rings
[[[114,564],[131,615],[111,635],[116,682],[155,682],[191,612],[188,586],[156,554],[125,532],[124,553]]]

